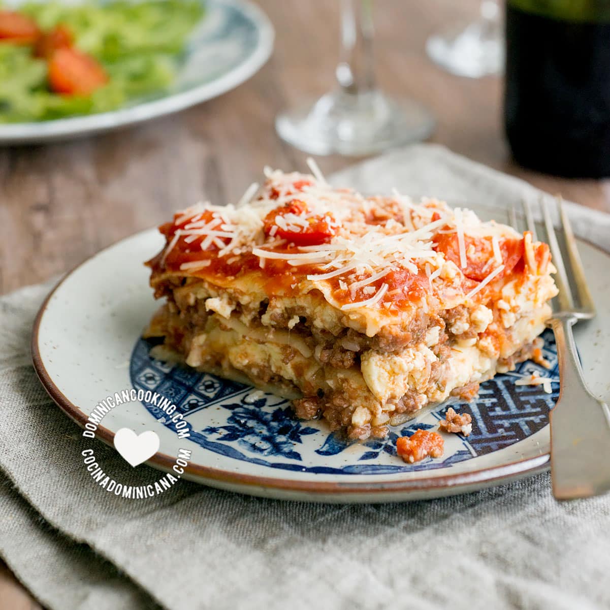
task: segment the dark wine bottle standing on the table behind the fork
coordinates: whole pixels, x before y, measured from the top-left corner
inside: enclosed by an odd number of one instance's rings
[[[521,165],[610,176],[610,0],[508,0],[504,124]]]

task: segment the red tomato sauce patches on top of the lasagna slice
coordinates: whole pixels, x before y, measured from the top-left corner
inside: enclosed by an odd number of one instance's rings
[[[279,205],[263,219],[263,231],[267,240],[279,239],[285,242],[274,246],[273,252],[302,255],[300,248],[303,246],[320,246],[323,249],[324,244],[331,242],[336,235],[338,226],[332,213],[311,213],[307,203],[298,199],[298,192],[310,185],[312,182],[308,179],[300,179],[285,188],[278,187],[281,192],[276,187],[271,187],[271,199],[295,195],[292,201]],[[436,212],[435,216],[438,216]],[[237,276],[256,271],[263,279],[264,289],[269,295],[294,295],[296,287],[307,275],[328,271],[322,270],[318,264],[290,265],[288,257],[261,259],[248,251],[223,253],[223,256],[218,256],[219,251],[229,245],[233,237],[231,223],[218,211],[207,209],[186,218],[183,214],[176,213],[173,222],[163,224],[159,229],[167,238],[167,243],[173,245],[149,261],[149,265],[158,270],[188,270],[192,276],[208,277],[220,282],[223,278],[231,281]],[[176,238],[178,231],[188,234],[179,234]],[[197,231],[201,231],[201,235],[197,234]],[[460,267],[456,233],[439,232],[434,236],[434,242],[437,252],[442,252],[448,260]],[[518,271],[519,265],[523,265],[523,239],[503,238],[498,240],[498,246],[504,265],[500,277]],[[261,247],[267,249],[265,245]],[[464,292],[470,292],[495,268],[490,265],[490,259],[494,257],[493,240],[491,237],[475,238],[465,235],[465,249],[467,267],[462,270],[462,284]],[[545,253],[536,251],[536,255],[544,257]],[[196,262],[203,262],[203,265],[198,266]],[[328,280],[332,297],[340,305],[370,300],[381,289],[384,290],[382,302],[390,309],[400,309],[429,300],[430,281],[422,268],[417,271],[404,267],[392,268],[370,284],[357,286],[355,289],[353,284],[359,283],[365,276],[352,276],[348,279],[350,273],[352,272],[346,271],[345,275]]]

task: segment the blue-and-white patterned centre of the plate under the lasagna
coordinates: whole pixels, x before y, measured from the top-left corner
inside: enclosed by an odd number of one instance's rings
[[[518,374],[537,372],[558,380],[553,333],[545,332],[544,338],[543,353],[551,362],[550,370],[528,361],[519,365]],[[282,470],[362,475],[448,468],[509,447],[544,428],[559,395],[558,382],[553,382],[553,392],[547,394],[541,386],[516,386],[510,374],[497,375],[481,385],[478,398],[472,402],[452,404],[472,415],[470,436],[451,435],[451,447],[445,443],[442,459],[404,464],[395,458],[398,437],[411,436],[420,428],[436,428],[445,417],[447,403],[420,422],[391,428],[387,439],[350,442],[329,432],[324,422],[298,420],[286,400],[157,361],[149,356],[150,348],[145,340],[136,343],[130,367],[132,384],[173,401],[188,423],[191,441],[229,458]],[[143,404],[159,422],[178,432],[159,407]]]

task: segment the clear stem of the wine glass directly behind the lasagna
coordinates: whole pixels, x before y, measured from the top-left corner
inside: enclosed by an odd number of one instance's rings
[[[372,0],[341,2],[341,54],[336,75],[340,88],[350,95],[375,90]]]

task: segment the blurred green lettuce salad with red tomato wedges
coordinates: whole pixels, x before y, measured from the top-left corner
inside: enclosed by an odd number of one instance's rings
[[[202,16],[200,0],[0,5],[0,123],[106,112],[167,89]]]

